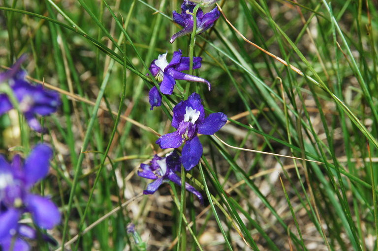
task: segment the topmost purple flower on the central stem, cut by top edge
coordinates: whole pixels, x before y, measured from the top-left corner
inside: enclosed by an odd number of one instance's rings
[[[195,5],[196,4],[194,2],[184,0],[183,4],[181,4],[181,14],[177,13],[176,11],[173,11],[173,21],[175,21],[175,23],[181,25],[184,28],[171,37],[171,40],[169,40],[170,43],[173,43],[176,40],[176,38],[189,34],[193,31],[194,22],[192,13]],[[220,15],[221,12],[218,10],[217,7],[215,7],[206,14],[203,14],[202,9],[199,8],[196,14],[197,27],[195,33],[201,34],[202,32],[211,28]]]

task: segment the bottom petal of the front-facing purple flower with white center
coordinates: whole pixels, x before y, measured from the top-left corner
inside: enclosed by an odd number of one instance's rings
[[[181,159],[183,166],[187,171],[189,171],[199,163],[199,160],[202,156],[202,151],[202,144],[197,136],[185,143]]]

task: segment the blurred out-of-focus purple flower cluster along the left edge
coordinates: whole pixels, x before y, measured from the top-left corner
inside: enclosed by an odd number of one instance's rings
[[[36,115],[56,112],[61,101],[57,92],[26,80],[26,72],[20,69],[25,59],[26,56],[21,56],[13,67],[0,73],[0,115],[17,109],[33,130],[43,132]],[[0,250],[30,250],[26,240],[36,239],[37,231],[19,222],[25,213],[30,214],[34,225],[40,228],[51,229],[60,223],[61,214],[50,198],[30,192],[32,186],[47,175],[52,156],[53,151],[46,144],[37,144],[25,163],[19,155],[11,163],[0,156]],[[55,244],[48,235],[41,237]]]

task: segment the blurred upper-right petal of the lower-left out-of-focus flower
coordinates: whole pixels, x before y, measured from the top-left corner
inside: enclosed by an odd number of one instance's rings
[[[44,178],[49,172],[53,150],[46,144],[37,144],[25,161],[24,172],[27,187]]]

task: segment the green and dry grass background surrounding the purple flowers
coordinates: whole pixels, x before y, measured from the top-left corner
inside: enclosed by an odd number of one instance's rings
[[[16,112],[0,117],[1,153],[40,139],[55,150],[39,192],[63,214],[49,232],[59,246],[36,250],[377,249],[377,1],[218,2],[234,27],[221,16],[197,36],[196,75],[213,88],[191,84],[208,112],[230,118],[219,139],[201,136],[204,157],[187,175],[204,206],[168,184],[141,195],[149,181],[136,175],[183,97],[176,89],[150,111],[146,76],[158,54],[189,53],[189,36],[168,42],[181,1],[0,2],[0,65],[26,53],[32,81],[62,93],[44,135],[20,131]]]

